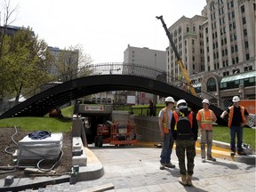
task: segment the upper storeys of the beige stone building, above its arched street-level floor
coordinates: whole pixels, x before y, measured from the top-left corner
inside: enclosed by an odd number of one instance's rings
[[[202,16],[183,16],[169,28],[192,82],[200,82],[198,74],[209,71],[230,76],[254,70],[255,0],[206,3]],[[167,73],[182,76],[171,44],[167,48]]]

